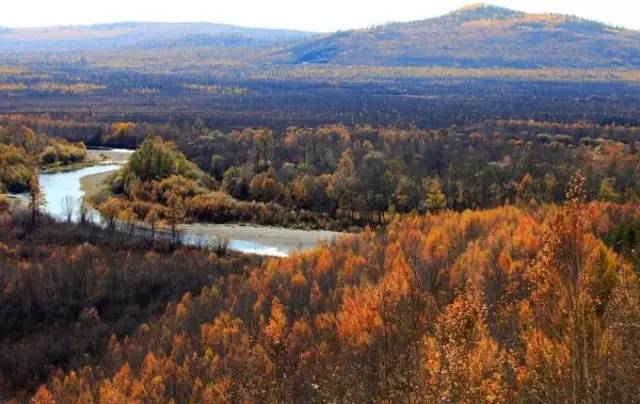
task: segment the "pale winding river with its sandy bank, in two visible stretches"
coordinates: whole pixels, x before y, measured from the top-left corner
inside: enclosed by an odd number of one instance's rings
[[[119,169],[131,155],[131,151],[119,149],[92,150],[91,153],[102,154],[109,158],[109,162],[74,171],[38,176],[46,200],[44,210],[48,215],[60,220],[65,219],[64,201],[68,200],[77,206],[78,201],[84,196],[82,178],[106,178],[109,173]],[[342,235],[330,231],[238,224],[187,224],[181,226],[180,230],[183,242],[189,245],[217,244],[222,238],[229,241],[229,248],[232,250],[277,257],[288,256],[296,250],[313,248],[320,241],[330,242]]]

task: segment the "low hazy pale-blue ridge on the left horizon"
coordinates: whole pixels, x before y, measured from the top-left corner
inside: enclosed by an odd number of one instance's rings
[[[0,28],[0,50],[79,51],[168,46],[269,46],[312,33],[210,23],[129,22],[91,26]]]

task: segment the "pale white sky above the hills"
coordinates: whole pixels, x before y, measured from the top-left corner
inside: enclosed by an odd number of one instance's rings
[[[122,21],[206,21],[330,32],[445,14],[473,0],[3,0],[2,27]],[[527,12],[571,14],[640,29],[638,0],[495,0]]]

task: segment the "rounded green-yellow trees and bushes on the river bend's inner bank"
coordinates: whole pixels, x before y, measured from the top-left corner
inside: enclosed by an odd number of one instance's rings
[[[271,179],[267,181],[279,186]],[[220,183],[187,160],[174,144],[159,137],[143,141],[119,171],[83,178],[81,185],[87,192],[87,200],[103,216],[119,218],[123,212],[129,212],[126,220],[133,217],[133,221],[146,222],[150,212],[154,212],[172,228],[207,222],[292,230],[347,229],[327,215],[296,212],[276,201],[237,200],[219,189]],[[176,201],[174,206],[172,198]],[[354,226],[348,228],[353,230]]]

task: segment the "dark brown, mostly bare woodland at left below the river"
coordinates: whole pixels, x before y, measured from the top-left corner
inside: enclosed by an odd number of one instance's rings
[[[169,248],[90,223],[34,227],[0,197],[0,401],[34,390],[56,367],[95,363],[186,291],[242,273],[250,257]]]

